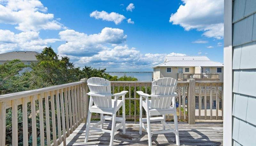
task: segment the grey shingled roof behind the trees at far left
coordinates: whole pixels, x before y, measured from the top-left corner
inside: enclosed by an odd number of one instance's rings
[[[19,59],[20,61],[37,61],[36,55],[40,53],[35,51],[13,51],[0,54],[0,61],[11,61]]]

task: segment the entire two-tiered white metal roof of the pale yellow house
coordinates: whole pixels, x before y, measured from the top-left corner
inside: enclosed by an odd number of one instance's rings
[[[158,64],[156,67],[222,67],[220,62],[211,61],[206,56],[166,56],[164,63]]]

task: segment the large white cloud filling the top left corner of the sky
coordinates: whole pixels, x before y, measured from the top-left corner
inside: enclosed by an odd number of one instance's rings
[[[0,23],[15,25],[24,32],[66,29],[46,12],[47,7],[38,0],[0,0]]]

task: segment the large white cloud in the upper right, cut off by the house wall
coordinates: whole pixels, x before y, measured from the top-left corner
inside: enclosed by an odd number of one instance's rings
[[[224,36],[224,1],[223,0],[182,0],[170,22],[180,25],[185,30],[203,31],[206,37],[222,39]]]

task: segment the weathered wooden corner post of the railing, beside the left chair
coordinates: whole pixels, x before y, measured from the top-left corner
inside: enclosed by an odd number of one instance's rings
[[[86,82],[87,81],[87,78],[82,78],[80,81],[83,81],[83,82]],[[89,98],[88,98],[88,95],[87,95],[87,91],[88,91],[88,88],[87,88],[87,83],[83,84],[82,85],[82,90],[83,90],[83,95],[82,95],[82,98],[84,99],[84,102],[83,102],[83,111],[84,111],[84,119],[83,121],[85,122],[87,119],[87,113],[88,113],[88,105],[89,105]]]

